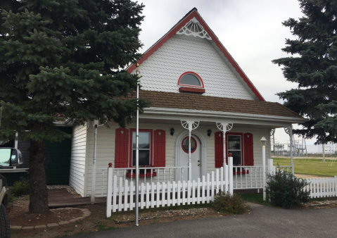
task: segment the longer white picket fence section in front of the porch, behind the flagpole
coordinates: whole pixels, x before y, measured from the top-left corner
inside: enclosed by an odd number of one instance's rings
[[[229,165],[212,171],[197,181],[146,182],[139,184],[139,208],[155,208],[160,206],[179,206],[196,203],[210,203],[220,191],[233,194],[233,180],[228,176],[233,171],[232,160]],[[231,173],[232,174],[232,173]],[[113,176],[113,168],[108,168],[108,194],[106,215],[111,212],[131,211],[136,207],[135,183]]]

